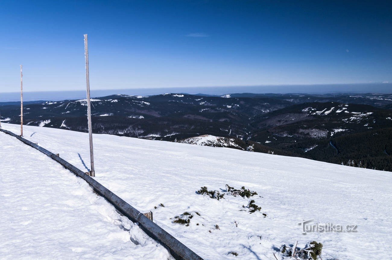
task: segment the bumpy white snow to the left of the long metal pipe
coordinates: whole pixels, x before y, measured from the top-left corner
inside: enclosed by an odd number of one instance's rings
[[[0,259],[170,257],[81,178],[8,134],[0,143]]]

